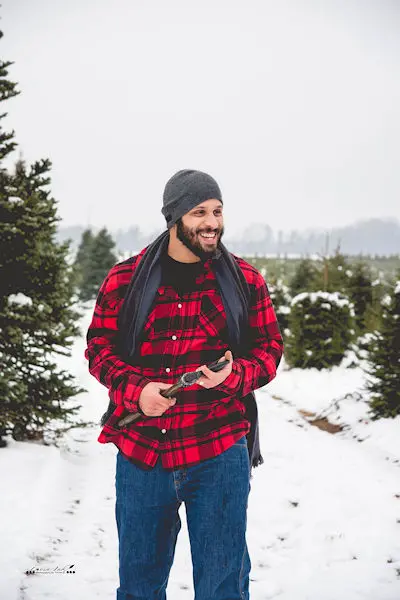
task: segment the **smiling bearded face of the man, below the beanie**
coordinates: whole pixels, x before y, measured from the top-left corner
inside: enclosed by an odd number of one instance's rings
[[[177,221],[176,237],[202,261],[215,256],[224,233],[222,202],[206,200]]]

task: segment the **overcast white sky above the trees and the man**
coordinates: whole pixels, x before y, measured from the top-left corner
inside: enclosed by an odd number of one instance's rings
[[[400,219],[400,2],[2,0],[8,125],[66,225],[164,226],[209,172],[227,233]]]

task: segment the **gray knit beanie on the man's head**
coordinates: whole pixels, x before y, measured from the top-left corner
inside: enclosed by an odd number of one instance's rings
[[[211,199],[222,202],[221,190],[211,175],[190,169],[175,173],[165,186],[161,209],[168,229],[171,229],[189,210]]]

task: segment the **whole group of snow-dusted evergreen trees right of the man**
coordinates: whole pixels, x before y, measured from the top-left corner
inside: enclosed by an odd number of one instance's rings
[[[350,349],[366,351],[373,418],[400,414],[399,280],[400,269],[394,280],[373,280],[365,263],[350,267],[336,251],[300,261],[287,286],[281,276],[269,284],[289,367],[330,368]]]

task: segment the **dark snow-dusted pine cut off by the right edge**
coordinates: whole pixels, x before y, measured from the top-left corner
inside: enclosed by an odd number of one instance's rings
[[[369,349],[366,387],[372,418],[400,415],[400,277],[384,298],[382,325]]]

